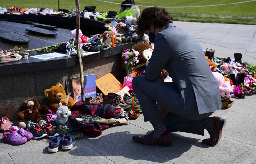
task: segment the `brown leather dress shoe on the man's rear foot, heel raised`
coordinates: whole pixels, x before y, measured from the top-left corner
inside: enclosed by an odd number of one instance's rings
[[[215,145],[220,141],[222,136],[222,129],[225,127],[227,121],[221,117],[214,116],[212,121],[212,133],[209,132],[210,138],[202,140],[202,143]]]

